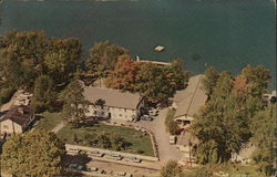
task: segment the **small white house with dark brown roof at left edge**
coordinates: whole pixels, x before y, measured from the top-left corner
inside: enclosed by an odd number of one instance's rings
[[[20,105],[12,107],[0,119],[1,137],[13,133],[23,133],[32,123],[34,117],[35,115],[33,110],[28,106]]]

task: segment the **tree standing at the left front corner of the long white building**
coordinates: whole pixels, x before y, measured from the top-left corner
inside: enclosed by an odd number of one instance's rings
[[[89,103],[85,101],[83,92],[84,90],[79,80],[74,79],[61,93],[61,100],[63,101],[62,113],[70,122],[79,124],[85,119]]]

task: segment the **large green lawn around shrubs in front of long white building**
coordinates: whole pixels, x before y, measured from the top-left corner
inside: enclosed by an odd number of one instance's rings
[[[89,127],[73,128],[71,124],[68,124],[58,133],[58,136],[69,144],[98,147],[92,146],[88,139],[84,140],[84,136],[89,134],[93,137],[103,132],[112,135],[119,134],[120,136],[124,137],[125,142],[132,144],[127,149],[122,152],[137,154],[137,150],[141,149],[144,152],[142,155],[154,156],[150,135],[144,135],[144,133],[130,127],[95,124]],[[75,143],[73,140],[74,134],[76,135],[78,139],[81,139],[81,142]]]

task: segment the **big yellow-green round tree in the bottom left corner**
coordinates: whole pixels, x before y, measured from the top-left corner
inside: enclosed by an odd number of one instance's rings
[[[3,145],[1,165],[16,176],[57,176],[62,173],[64,144],[44,131],[12,135]]]

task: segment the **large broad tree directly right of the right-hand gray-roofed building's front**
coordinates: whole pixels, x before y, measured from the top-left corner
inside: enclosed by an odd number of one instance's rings
[[[228,84],[226,86],[229,88]],[[219,94],[219,97],[213,95],[193,124],[193,133],[201,142],[196,157],[202,164],[227,162],[232,153],[238,153],[250,136],[248,118],[240,112],[236,96],[228,92],[226,94]]]

